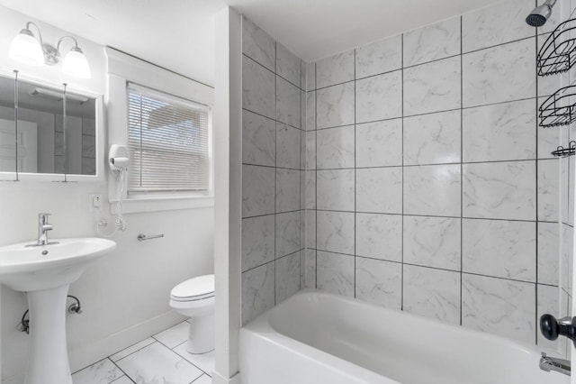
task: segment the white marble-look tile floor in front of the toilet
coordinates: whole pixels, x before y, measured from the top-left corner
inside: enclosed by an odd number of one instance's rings
[[[74,384],[210,384],[214,352],[186,352],[188,323],[112,354],[78,370]]]

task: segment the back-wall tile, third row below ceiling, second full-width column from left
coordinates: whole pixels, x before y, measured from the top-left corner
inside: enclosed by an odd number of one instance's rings
[[[402,120],[356,124],[356,167],[402,165]]]

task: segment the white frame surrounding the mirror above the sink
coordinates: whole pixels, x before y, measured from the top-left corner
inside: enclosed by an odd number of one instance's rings
[[[5,78],[11,78],[13,81],[15,79],[14,69],[0,68],[0,76]],[[27,83],[32,83],[39,85],[41,87],[50,87],[60,89],[63,87],[62,84],[55,83],[53,81],[47,81],[41,78],[33,77],[29,74],[22,74],[21,71],[18,72],[18,80],[25,81]],[[51,181],[51,182],[103,182],[104,169],[103,169],[103,150],[104,150],[104,103],[103,95],[96,94],[90,90],[75,87],[73,84],[67,85],[67,93],[72,93],[76,95],[87,96],[94,99],[95,104],[95,174],[94,175],[79,175],[79,174],[68,174],[68,173],[26,173],[26,172],[16,172],[0,171],[0,181],[23,181],[23,180],[33,180],[33,181]]]

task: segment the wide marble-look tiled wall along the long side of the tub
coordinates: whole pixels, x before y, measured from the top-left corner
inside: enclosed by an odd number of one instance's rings
[[[561,16],[536,32],[535,5],[307,66],[305,286],[564,349],[536,323],[561,301],[559,131],[537,126],[537,97],[563,77],[536,77]]]

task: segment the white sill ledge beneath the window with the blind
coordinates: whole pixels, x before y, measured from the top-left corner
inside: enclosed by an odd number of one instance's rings
[[[112,214],[118,214],[118,200],[110,200]],[[122,200],[122,213],[171,211],[175,209],[209,208],[214,197],[139,197]]]

